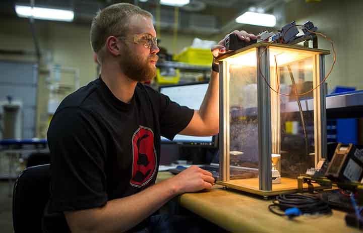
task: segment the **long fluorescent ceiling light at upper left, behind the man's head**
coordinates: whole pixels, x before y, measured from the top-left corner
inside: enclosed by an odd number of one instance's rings
[[[70,10],[59,10],[42,7],[34,7],[32,9],[29,6],[16,5],[15,11],[19,17],[23,18],[30,18],[31,16],[33,16],[34,19],[66,22],[72,22],[74,19],[74,12]]]

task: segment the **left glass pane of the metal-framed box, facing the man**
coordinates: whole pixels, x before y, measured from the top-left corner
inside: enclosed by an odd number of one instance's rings
[[[227,60],[230,179],[258,177],[256,49]]]

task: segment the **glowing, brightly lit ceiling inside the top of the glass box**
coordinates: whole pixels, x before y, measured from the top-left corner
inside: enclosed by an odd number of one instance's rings
[[[265,51],[266,52],[266,51]],[[306,51],[298,51],[298,50],[287,50],[284,48],[271,47],[269,49],[270,52],[270,67],[275,67],[275,56],[277,66],[283,66],[292,62],[296,62],[299,60],[306,59],[308,57],[316,54],[315,52],[306,52]],[[248,66],[248,67],[256,67],[257,66],[257,52],[256,49],[250,49],[245,52],[241,52],[240,54],[236,54],[235,56],[228,57],[226,61],[232,65],[238,66]],[[307,66],[306,68],[312,69],[311,66]]]

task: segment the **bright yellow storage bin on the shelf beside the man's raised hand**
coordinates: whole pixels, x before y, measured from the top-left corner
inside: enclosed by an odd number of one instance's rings
[[[173,59],[192,65],[210,66],[213,62],[213,55],[210,49],[188,47],[183,52],[174,55]]]

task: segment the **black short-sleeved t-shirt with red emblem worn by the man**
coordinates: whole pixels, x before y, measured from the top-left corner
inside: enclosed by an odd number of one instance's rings
[[[101,207],[153,185],[160,135],[172,140],[193,112],[140,83],[131,102],[122,102],[101,78],[67,96],[47,134],[51,195],[44,231],[70,231],[63,211]]]

